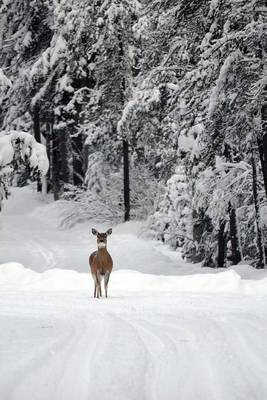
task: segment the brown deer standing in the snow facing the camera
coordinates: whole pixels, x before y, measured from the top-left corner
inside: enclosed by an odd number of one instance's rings
[[[101,279],[104,277],[105,295],[108,297],[108,281],[112,271],[113,261],[107,251],[107,237],[112,234],[112,229],[106,233],[99,233],[92,229],[92,234],[97,237],[97,251],[94,251],[89,257],[92,277],[95,283],[94,297],[102,297]]]

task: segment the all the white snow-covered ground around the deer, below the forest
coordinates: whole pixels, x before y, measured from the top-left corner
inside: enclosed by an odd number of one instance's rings
[[[59,227],[64,203],[15,189],[0,230],[0,398],[257,400],[267,397],[267,273],[186,264],[113,227],[108,299],[94,299],[93,222]]]

